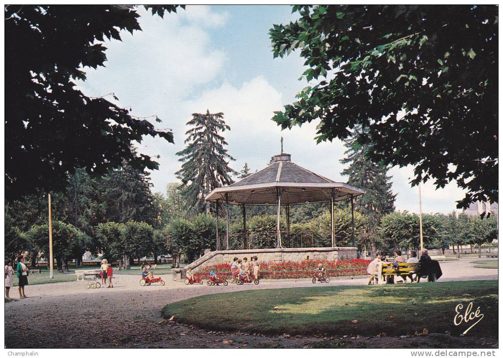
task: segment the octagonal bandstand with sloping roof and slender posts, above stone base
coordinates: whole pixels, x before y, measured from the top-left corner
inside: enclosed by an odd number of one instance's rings
[[[336,246],[333,220],[334,203],[351,201],[352,239],[355,246],[354,198],[365,191],[346,183],[334,182],[300,167],[291,161],[291,155],[281,153],[272,157],[266,168],[251,174],[227,187],[214,189],[205,200],[215,202],[217,208],[216,249],[220,250],[219,207],[225,205],[225,247],[229,249],[229,205],[242,207],[244,247],[247,247],[246,206],[275,205],[277,207],[276,248],[283,248],[280,216],[282,207],[286,213],[286,236],[290,237],[290,206],[301,204],[329,203],[331,246]]]

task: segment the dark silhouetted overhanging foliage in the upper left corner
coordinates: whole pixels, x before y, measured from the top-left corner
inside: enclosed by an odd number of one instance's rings
[[[177,10],[146,8],[159,16]],[[86,79],[87,67],[104,65],[104,38],[120,40],[121,30],[141,30],[138,17],[135,7],[121,5],[5,7],[7,198],[61,191],[75,168],[104,173],[123,160],[158,167],[149,156],[132,152],[131,143],[145,135],[173,142],[171,131],[156,130],[131,109],[106,96],[90,98],[75,86]]]

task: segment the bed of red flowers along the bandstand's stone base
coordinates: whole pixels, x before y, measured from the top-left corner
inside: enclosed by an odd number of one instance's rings
[[[281,262],[260,262],[261,279],[300,279],[312,277],[318,263],[322,263],[326,268],[326,275],[330,277],[356,276],[367,273],[367,265],[370,260],[354,258],[351,260],[323,261],[304,260],[281,261]],[[217,265],[206,266],[195,273],[200,279],[208,280],[210,268],[215,268],[219,278],[230,278],[230,263],[219,263]]]

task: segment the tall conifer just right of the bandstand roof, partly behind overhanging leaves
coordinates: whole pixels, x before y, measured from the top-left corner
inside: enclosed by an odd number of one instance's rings
[[[370,244],[372,256],[375,256],[375,242],[378,240],[378,227],[384,215],[395,210],[396,194],[391,191],[391,176],[387,175],[388,168],[375,163],[369,158],[369,144],[358,141],[361,128],[358,127],[353,135],[344,141],[346,158],[341,163],[349,167],[342,171],[342,175],[349,176],[348,184],[364,189],[366,193],[355,198],[355,210],[367,217],[367,227],[362,237],[365,244]]]

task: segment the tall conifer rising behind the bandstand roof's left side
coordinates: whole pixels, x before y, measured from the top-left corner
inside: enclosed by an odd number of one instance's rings
[[[194,113],[187,122],[191,128],[185,133],[188,143],[184,150],[177,153],[183,162],[176,172],[182,181],[181,191],[187,205],[194,212],[202,212],[204,197],[213,189],[233,183],[230,175],[237,172],[229,167],[229,161],[235,160],[224,148],[227,145],[220,132],[230,130],[223,120],[223,113]],[[206,212],[210,212],[206,203]]]

